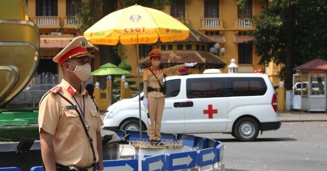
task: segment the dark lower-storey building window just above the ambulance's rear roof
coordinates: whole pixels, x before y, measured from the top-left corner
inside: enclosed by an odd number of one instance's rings
[[[252,43],[238,43],[238,63],[252,64]]]

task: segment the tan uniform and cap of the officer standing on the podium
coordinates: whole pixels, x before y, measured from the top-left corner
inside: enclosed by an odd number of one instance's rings
[[[149,56],[162,56],[162,51],[160,49],[153,49],[150,51]],[[148,86],[152,88],[160,88],[160,85],[154,76],[154,74],[157,76],[157,78],[160,81],[160,84],[164,86],[163,83],[163,73],[167,74],[169,72],[177,71],[178,69],[184,68],[185,65],[175,65],[170,68],[164,68],[160,69],[158,67],[157,71],[154,71],[153,67],[145,69],[143,73],[143,82],[147,82]],[[154,74],[152,74],[152,72]],[[144,85],[144,89],[147,88],[146,85]],[[148,125],[148,135],[151,140],[161,140],[161,120],[163,117],[163,107],[164,107],[164,95],[163,92],[158,91],[151,91],[147,93],[148,99],[148,110],[150,115],[150,122],[151,124]]]

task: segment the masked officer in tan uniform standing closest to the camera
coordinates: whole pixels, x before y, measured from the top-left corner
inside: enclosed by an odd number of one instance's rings
[[[102,171],[103,121],[92,94],[82,85],[91,74],[87,40],[75,38],[53,61],[62,68],[61,83],[40,101],[41,154],[47,171]],[[89,90],[93,93],[92,90]]]

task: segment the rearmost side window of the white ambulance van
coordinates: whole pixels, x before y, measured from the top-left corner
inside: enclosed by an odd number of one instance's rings
[[[227,78],[228,97],[264,95],[267,85],[263,78]]]

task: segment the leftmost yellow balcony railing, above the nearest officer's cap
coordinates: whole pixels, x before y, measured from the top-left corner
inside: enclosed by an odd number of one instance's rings
[[[38,16],[33,18],[33,22],[40,29],[60,29],[60,17],[57,16]]]

